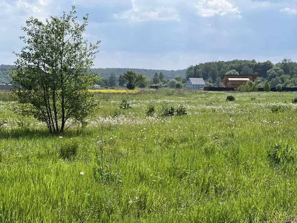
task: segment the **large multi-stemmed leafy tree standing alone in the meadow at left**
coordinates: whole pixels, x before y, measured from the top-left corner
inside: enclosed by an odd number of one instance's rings
[[[27,37],[20,37],[25,46],[15,53],[11,74],[18,84],[14,91],[17,111],[47,123],[50,133],[56,135],[83,122],[98,105],[89,88],[98,79],[91,67],[100,41],[82,41],[88,14],[82,23],[75,14],[72,6],[68,15],[51,16],[45,23],[29,18],[22,27]]]

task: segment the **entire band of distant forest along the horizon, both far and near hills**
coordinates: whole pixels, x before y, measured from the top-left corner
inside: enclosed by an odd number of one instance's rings
[[[11,65],[0,65],[0,83],[9,83]],[[138,83],[138,87],[148,87],[149,84],[158,84],[160,87],[185,87],[188,78],[203,78],[206,86],[220,86],[221,77],[225,74],[258,75],[258,83],[268,82],[271,87],[281,84],[283,87],[297,86],[297,63],[291,59],[283,59],[273,64],[271,61],[256,62],[255,60],[232,60],[200,63],[184,70],[149,70],[135,68],[95,68],[93,72],[100,73],[97,84],[102,87],[124,86],[122,74],[132,70],[136,74],[143,74],[146,79]]]

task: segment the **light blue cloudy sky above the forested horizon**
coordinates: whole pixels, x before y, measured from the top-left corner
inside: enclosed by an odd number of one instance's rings
[[[0,0],[0,64],[23,47],[21,27],[74,4],[89,13],[84,38],[101,40],[95,67],[185,69],[255,59],[297,61],[296,0]]]

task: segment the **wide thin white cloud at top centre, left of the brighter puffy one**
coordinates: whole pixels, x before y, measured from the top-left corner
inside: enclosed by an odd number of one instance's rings
[[[173,6],[162,6],[145,0],[132,0],[132,9],[121,14],[114,15],[115,18],[127,19],[132,22],[143,22],[149,20],[175,20],[179,21],[179,13]]]

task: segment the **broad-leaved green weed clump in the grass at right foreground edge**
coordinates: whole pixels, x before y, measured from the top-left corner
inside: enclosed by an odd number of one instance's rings
[[[293,147],[286,145],[282,148],[277,143],[270,150],[267,151],[267,156],[270,158],[271,163],[279,165],[281,161],[290,162],[293,161],[294,157],[292,155]]]

